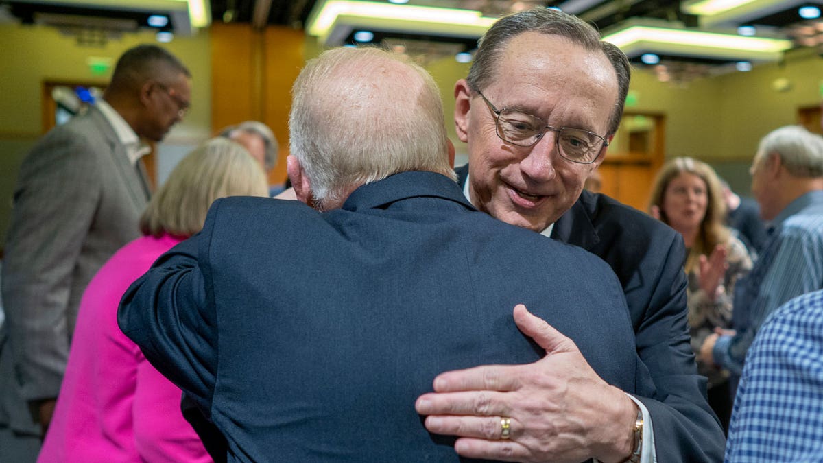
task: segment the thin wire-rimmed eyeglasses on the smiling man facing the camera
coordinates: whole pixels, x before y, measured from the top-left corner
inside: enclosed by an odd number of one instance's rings
[[[486,101],[486,105],[489,105],[491,112],[495,113],[497,136],[506,143],[518,147],[532,147],[543,138],[547,130],[551,130],[557,133],[555,145],[560,156],[579,164],[591,164],[597,161],[602,147],[609,146],[606,138],[588,130],[573,127],[557,129],[546,125],[542,119],[533,115],[506,108],[498,110],[495,105],[491,104],[491,101],[486,99],[483,92],[478,90],[477,93],[483,101]]]

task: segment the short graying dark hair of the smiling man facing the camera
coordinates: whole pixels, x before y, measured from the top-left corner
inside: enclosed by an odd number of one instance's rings
[[[608,133],[612,135],[620,127],[623,117],[625,96],[629,92],[631,68],[629,58],[616,45],[603,42],[600,33],[588,23],[553,8],[538,7],[525,12],[503,16],[486,30],[477,45],[472,68],[466,81],[474,91],[483,91],[498,77],[500,69],[497,64],[505,51],[506,45],[515,36],[525,32],[539,32],[546,35],[560,35],[574,44],[590,51],[602,51],[606,55],[617,77],[617,101],[609,118]],[[535,50],[535,53],[543,53]],[[580,76],[586,78],[586,76]]]

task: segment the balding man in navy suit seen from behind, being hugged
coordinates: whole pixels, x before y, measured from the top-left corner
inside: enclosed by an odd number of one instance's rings
[[[604,418],[629,414],[601,424],[625,430],[615,446],[628,457],[635,407],[623,391],[651,383],[608,266],[472,208],[453,180],[439,91],[399,55],[330,50],[293,94],[288,171],[314,208],[217,201],[119,309],[123,332],[193,397],[230,456],[457,461],[416,397],[443,369],[539,361],[583,364],[580,382],[614,385],[598,398]],[[521,334],[510,318],[520,302],[554,328],[518,306]],[[490,430],[518,438],[502,413]]]

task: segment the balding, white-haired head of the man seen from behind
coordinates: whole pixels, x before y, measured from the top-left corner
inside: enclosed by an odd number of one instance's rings
[[[407,57],[330,49],[306,63],[292,93],[291,154],[319,208],[398,172],[456,178],[437,85]]]

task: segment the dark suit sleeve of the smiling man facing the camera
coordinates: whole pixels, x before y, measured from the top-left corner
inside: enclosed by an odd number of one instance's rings
[[[638,399],[651,415],[657,461],[722,461],[723,429],[689,343],[683,252],[681,241],[670,242],[658,281],[647,283],[653,293],[636,335],[656,391]]]

